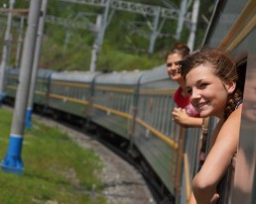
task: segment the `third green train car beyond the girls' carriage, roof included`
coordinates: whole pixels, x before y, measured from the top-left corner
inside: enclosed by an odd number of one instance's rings
[[[92,85],[97,74],[99,73],[55,72],[51,80],[50,107],[84,119],[89,117]]]

